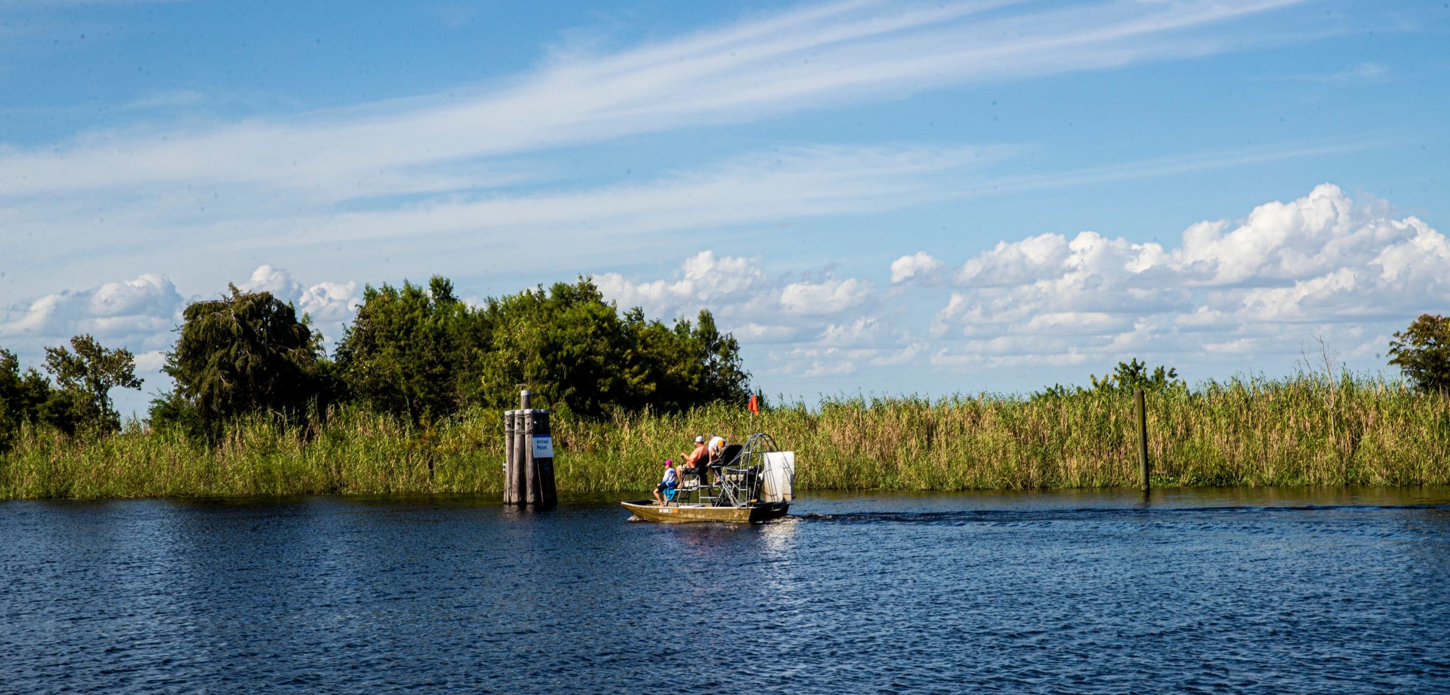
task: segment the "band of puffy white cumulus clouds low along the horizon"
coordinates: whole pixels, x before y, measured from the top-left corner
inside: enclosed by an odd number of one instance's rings
[[[1396,219],[1383,200],[1322,184],[1240,220],[1192,224],[1173,245],[1048,233],[951,262],[927,250],[905,255],[876,277],[838,277],[829,266],[771,274],[761,256],[706,249],[668,278],[593,279],[610,301],[648,316],[710,310],[768,382],[871,368],[1101,368],[1128,356],[1188,372],[1253,372],[1264,359],[1298,355],[1312,337],[1363,361],[1385,349],[1405,316],[1450,303],[1447,268],[1443,233],[1414,216]],[[271,265],[238,287],[294,303],[332,339],[361,301],[355,281],[304,285]],[[171,281],[145,274],[44,295],[0,316],[0,337],[38,345],[91,333],[139,346],[142,366],[154,369],[186,304]]]

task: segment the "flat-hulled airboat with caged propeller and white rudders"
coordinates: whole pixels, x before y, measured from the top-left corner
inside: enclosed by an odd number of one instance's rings
[[[652,500],[619,504],[642,521],[758,524],[780,518],[795,498],[796,453],[782,452],[770,434],[757,431],[744,445],[726,446],[705,475],[712,479],[684,475],[663,507]]]

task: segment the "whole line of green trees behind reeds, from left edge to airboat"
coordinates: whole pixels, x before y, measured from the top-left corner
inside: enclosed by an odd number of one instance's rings
[[[473,306],[452,282],[368,285],[332,355],[306,314],[271,292],[231,285],[183,311],[162,372],[174,387],[151,404],[152,427],[216,436],[244,414],[293,420],[357,404],[426,424],[468,408],[509,408],[519,388],[576,417],[615,408],[680,411],[744,404],[740,343],[708,310],[690,321],[619,311],[589,278]],[[20,372],[0,349],[0,449],[20,424],[65,433],[120,427],[113,388],[141,388],[135,356],[91,336],[48,348],[46,375]]]

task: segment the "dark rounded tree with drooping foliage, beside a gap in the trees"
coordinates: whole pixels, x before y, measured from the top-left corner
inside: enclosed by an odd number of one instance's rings
[[[322,336],[290,303],[231,285],[229,295],[186,307],[183,319],[162,366],[175,388],[152,401],[152,423],[191,421],[215,431],[242,413],[300,417],[326,398]]]

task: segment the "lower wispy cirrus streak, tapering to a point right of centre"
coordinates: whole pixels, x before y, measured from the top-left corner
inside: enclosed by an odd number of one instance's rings
[[[104,206],[26,201],[0,207],[0,226],[16,237],[38,240],[19,248],[38,265],[81,262],[71,253],[84,245],[87,253],[107,262],[154,258],[161,249],[207,258],[238,252],[316,256],[312,266],[291,264],[302,272],[320,272],[328,250],[341,245],[409,240],[422,249],[461,253],[548,237],[555,243],[550,255],[518,262],[519,268],[535,268],[529,264],[594,258],[602,236],[612,239],[609,252],[619,253],[666,232],[870,213],[937,200],[953,193],[950,181],[1016,152],[1012,146],[783,148],[639,184],[450,195],[354,211],[299,210],[290,198],[261,204],[213,197],[206,190],[158,193],[167,201],[162,204],[158,198]]]

